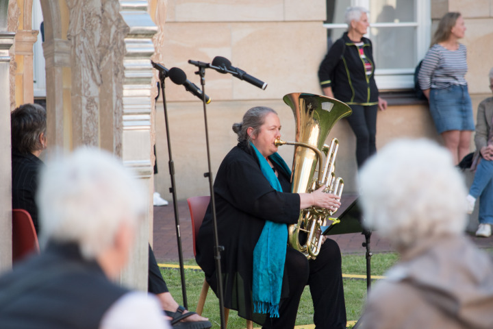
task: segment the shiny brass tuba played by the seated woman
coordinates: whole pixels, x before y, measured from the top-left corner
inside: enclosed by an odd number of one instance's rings
[[[276,140],[275,144],[295,145],[291,176],[292,193],[310,193],[325,185],[326,193],[340,196],[344,182],[342,178],[336,178],[334,175],[339,142],[337,138],[333,138],[331,145],[325,145],[325,139],[339,119],[351,114],[351,108],[342,101],[307,93],[291,93],[284,96],[283,101],[293,111],[296,136],[294,142]],[[315,259],[322,245],[321,227],[325,226],[328,220],[333,223],[339,222],[331,217],[334,212],[336,211],[315,206],[301,210],[298,223],[288,228],[288,244],[307,258]],[[306,234],[306,243],[301,242],[301,232]]]

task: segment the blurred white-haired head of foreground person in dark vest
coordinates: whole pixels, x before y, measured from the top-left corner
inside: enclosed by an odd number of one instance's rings
[[[121,160],[82,147],[48,162],[37,192],[42,241],[76,243],[91,260],[112,247],[123,226],[133,232],[147,210],[147,195]]]

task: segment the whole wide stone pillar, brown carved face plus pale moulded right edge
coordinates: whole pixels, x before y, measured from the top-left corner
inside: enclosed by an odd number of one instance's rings
[[[147,1],[65,3],[66,8],[60,4],[58,9],[54,1],[42,0],[49,145],[63,150],[81,145],[107,149],[142,179],[150,196],[150,58],[155,25],[147,14]],[[59,17],[62,9],[65,16]],[[67,40],[63,26],[68,27]],[[149,213],[121,278],[123,284],[141,290],[147,290]]]

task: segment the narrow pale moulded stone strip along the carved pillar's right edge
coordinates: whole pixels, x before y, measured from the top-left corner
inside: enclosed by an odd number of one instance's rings
[[[147,0],[120,1],[120,13],[129,26],[125,37],[125,66],[123,80],[123,163],[134,171],[148,187],[151,200],[153,166],[151,163],[151,88],[153,68],[152,42],[157,27],[148,14]],[[150,201],[149,200],[149,201]],[[122,274],[122,282],[142,290],[147,289],[147,244],[151,208],[138,231],[136,247],[131,254],[130,266]],[[135,284],[138,284],[137,286]]]

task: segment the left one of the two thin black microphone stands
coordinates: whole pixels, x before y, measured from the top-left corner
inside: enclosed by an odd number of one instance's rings
[[[173,156],[171,155],[171,142],[169,134],[168,125],[168,110],[166,108],[166,94],[164,93],[164,79],[168,76],[168,72],[159,70],[159,77],[161,82],[162,98],[163,98],[163,108],[164,108],[164,122],[166,123],[166,140],[168,141],[168,167],[171,177],[171,187],[169,189],[170,193],[173,195],[173,210],[175,210],[175,224],[176,224],[176,234],[177,234],[177,245],[178,245],[178,258],[179,258],[179,268],[181,276],[181,293],[183,294],[183,304],[184,308],[188,309],[188,302],[186,297],[186,284],[185,284],[185,270],[184,270],[184,260],[183,252],[181,251],[181,234],[179,228],[179,216],[178,216],[178,203],[175,188],[175,162],[173,162]]]

